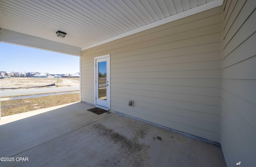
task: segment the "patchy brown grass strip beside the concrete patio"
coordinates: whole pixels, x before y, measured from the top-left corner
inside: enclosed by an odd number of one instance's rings
[[[79,101],[79,93],[1,101],[1,116],[9,116]]]

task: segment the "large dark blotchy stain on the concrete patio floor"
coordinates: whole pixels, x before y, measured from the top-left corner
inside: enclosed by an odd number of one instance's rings
[[[129,139],[126,136],[118,132],[114,132],[114,130],[110,128],[107,128],[103,124],[94,124],[93,127],[97,129],[97,132],[101,136],[110,139],[116,145],[119,145],[120,148],[123,150],[123,153],[119,155],[119,159],[116,159],[116,162],[114,162],[113,165],[118,166],[118,163],[120,163],[120,159],[126,159],[130,161],[132,163],[130,165],[132,166],[149,164],[147,160],[150,159],[150,156],[148,154],[148,149],[150,148],[150,145],[146,145],[145,143],[140,143],[138,141],[139,138],[145,137],[145,135],[147,134],[146,130],[134,130],[133,138]]]

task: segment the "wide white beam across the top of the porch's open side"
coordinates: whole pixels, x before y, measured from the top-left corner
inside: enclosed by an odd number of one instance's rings
[[[4,43],[33,47],[36,49],[54,51],[68,55],[81,56],[82,54],[80,47],[74,47],[63,43],[10,31],[7,29],[0,29],[0,41]]]

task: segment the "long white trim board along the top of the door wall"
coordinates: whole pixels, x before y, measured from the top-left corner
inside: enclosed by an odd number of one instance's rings
[[[131,31],[127,31],[125,33],[122,33],[120,35],[116,35],[114,37],[111,37],[111,38],[108,38],[108,39],[105,39],[103,41],[100,41],[100,42],[97,42],[97,43],[94,43],[92,45],[89,45],[89,46],[86,46],[86,47],[82,47],[82,51],[86,50],[86,49],[90,49],[92,47],[96,47],[98,45],[102,45],[104,43],[108,43],[108,42],[111,42],[111,41],[114,41],[116,39],[120,39],[120,38],[123,38],[123,37],[127,37],[129,35],[132,35],[132,34],[135,34],[135,33],[138,33],[138,32],[141,32],[141,31],[145,31],[147,29],[150,29],[150,28],[154,28],[154,27],[157,27],[157,26],[161,26],[163,24],[166,24],[166,23],[169,23],[169,22],[173,22],[175,20],[179,20],[181,18],[185,18],[185,17],[188,17],[188,16],[191,16],[193,14],[197,14],[197,13],[200,13],[200,12],[204,12],[206,10],[209,10],[209,9],[212,9],[212,8],[216,8],[218,6],[221,6],[223,4],[223,1],[224,0],[214,0],[212,2],[208,2],[206,4],[203,4],[203,5],[200,5],[200,6],[197,6],[195,8],[192,8],[190,10],[186,10],[184,12],[180,12],[178,14],[175,14],[175,15],[172,15],[172,16],[169,16],[168,18],[164,18],[164,19],[161,19],[161,20],[158,20],[156,22],[153,22],[153,23],[150,23],[150,24],[147,24],[145,26],[142,26],[142,27],[139,27],[139,28],[136,28],[136,29],[133,29]]]

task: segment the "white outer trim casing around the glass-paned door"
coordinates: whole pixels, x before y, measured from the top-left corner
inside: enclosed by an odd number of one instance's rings
[[[102,59],[102,58],[107,58],[107,81],[108,81],[108,87],[107,87],[107,106],[100,106],[96,104],[96,98],[97,98],[97,94],[96,94],[96,60],[97,59]],[[110,110],[110,54],[108,55],[102,55],[102,56],[98,56],[98,57],[94,57],[94,105],[98,108],[102,108],[104,110]]]

